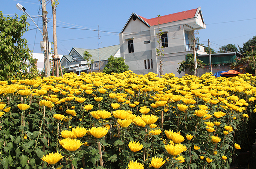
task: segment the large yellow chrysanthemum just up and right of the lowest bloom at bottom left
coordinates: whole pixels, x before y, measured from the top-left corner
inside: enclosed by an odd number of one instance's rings
[[[65,138],[59,140],[59,144],[66,150],[76,151],[84,143],[81,143],[81,140]]]

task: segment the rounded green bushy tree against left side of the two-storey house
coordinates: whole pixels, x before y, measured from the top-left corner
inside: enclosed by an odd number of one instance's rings
[[[122,57],[113,57],[112,55],[108,58],[108,63],[105,65],[103,72],[106,74],[122,73],[128,71],[129,66],[125,64],[125,59]]]

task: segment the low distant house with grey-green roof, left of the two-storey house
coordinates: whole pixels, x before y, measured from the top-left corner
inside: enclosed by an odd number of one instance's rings
[[[99,69],[99,52],[98,49],[84,49],[84,48],[72,48],[69,55],[63,55],[61,59],[61,66],[64,66],[67,72],[75,72],[80,74],[81,72],[88,73],[90,71],[87,61],[83,58],[84,51],[88,51],[94,59],[94,63],[91,64],[91,70],[98,72]],[[114,57],[120,57],[120,45],[114,45],[109,47],[100,48],[100,69],[103,71],[104,66],[107,64],[108,58],[112,55]]]

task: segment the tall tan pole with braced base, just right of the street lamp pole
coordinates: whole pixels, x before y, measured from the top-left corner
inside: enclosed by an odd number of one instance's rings
[[[54,46],[54,56],[53,56],[53,67],[55,68],[55,75],[59,77],[59,58],[58,58],[58,48],[57,48],[57,35],[56,35],[56,2],[52,0],[52,19],[53,19],[53,46]],[[52,73],[53,74],[53,73]]]

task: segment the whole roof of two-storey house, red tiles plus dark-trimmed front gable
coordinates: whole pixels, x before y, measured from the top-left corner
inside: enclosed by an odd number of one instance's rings
[[[165,23],[185,20],[185,19],[189,19],[189,18],[196,18],[198,16],[198,14],[201,15],[202,21],[204,23],[203,15],[202,15],[202,12],[201,12],[201,7],[198,7],[197,9],[191,9],[191,10],[188,10],[188,11],[177,12],[177,13],[174,13],[174,14],[164,15],[164,16],[161,16],[159,18],[156,17],[156,18],[151,18],[151,19],[146,19],[146,18],[141,17],[141,16],[139,16],[139,15],[137,15],[133,12],[131,14],[130,18],[128,19],[128,21],[126,22],[125,26],[123,27],[121,33],[123,32],[126,25],[132,19],[133,16],[136,16],[144,24],[146,24],[148,27],[150,27],[150,26],[157,25],[158,20],[159,20],[159,24],[165,24]]]

